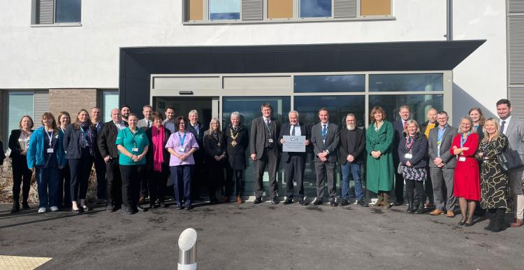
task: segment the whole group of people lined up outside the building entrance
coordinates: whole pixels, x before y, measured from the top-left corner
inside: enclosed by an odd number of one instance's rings
[[[85,203],[87,180],[94,164],[97,197],[112,212],[124,206],[126,213],[145,211],[141,207],[147,194],[150,208],[165,207],[166,183],[173,180],[178,208],[191,209],[198,199],[198,186],[207,180],[210,202],[218,203],[217,191],[225,185],[227,202],[236,192],[242,203],[246,152],[254,162],[255,199],[262,202],[263,174],[268,171],[269,195],[277,201],[277,170],[282,159],[286,199],[284,204],[307,205],[303,178],[307,152],[286,152],[284,136],[303,136],[305,148],[314,153],[316,197],[312,204],[323,204],[327,182],[331,206],[349,204],[349,179],[355,181],[357,204],[367,206],[363,195],[363,174],[367,190],[377,194],[374,206],[389,208],[405,204],[408,213],[446,214],[453,218],[458,198],[462,218],[458,225],[471,226],[475,209],[494,213],[487,229],[504,229],[504,213],[511,188],[516,205],[511,227],[523,225],[523,168],[504,171],[497,155],[516,150],[524,161],[524,122],[511,117],[511,103],[497,102],[499,119],[484,119],[480,108],[451,127],[445,111],[428,110],[428,121],[419,125],[410,120],[409,106],[401,106],[400,118],[386,120],[386,112],[374,107],[367,129],[356,127],[356,115],[349,113],[338,127],[329,122],[327,108],[319,110],[319,123],[310,127],[290,111],[289,122],[280,125],[272,116],[270,104],[261,105],[262,116],[255,118],[248,132],[240,123],[240,113],[231,113],[224,129],[212,118],[208,129],[198,122],[198,112],[188,118],[175,118],[175,109],[163,114],[143,107],[143,119],[129,106],[111,111],[111,120],[101,122],[101,111],[80,110],[74,121],[61,112],[58,121],[44,113],[42,127],[33,130],[29,115],[20,120],[20,129],[11,132],[10,157],[13,160],[13,209],[29,209],[27,197],[33,169],[38,181],[39,213],[71,207],[73,213],[89,211]],[[344,127],[345,125],[345,127]],[[0,160],[3,158],[0,157]],[[342,173],[341,199],[337,202],[335,165]],[[225,172],[225,173],[224,173]],[[225,176],[224,176],[225,174]],[[235,178],[235,181],[233,181]],[[199,182],[200,181],[200,182]],[[405,184],[405,187],[404,187]],[[390,201],[390,193],[395,201]],[[426,199],[428,199],[426,203]]]

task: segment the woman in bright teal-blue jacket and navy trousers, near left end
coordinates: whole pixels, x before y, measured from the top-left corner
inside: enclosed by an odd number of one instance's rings
[[[58,211],[60,169],[66,166],[64,134],[59,132],[52,113],[42,115],[42,125],[33,132],[27,149],[27,166],[36,169],[38,213],[45,213],[48,206],[52,212]]]

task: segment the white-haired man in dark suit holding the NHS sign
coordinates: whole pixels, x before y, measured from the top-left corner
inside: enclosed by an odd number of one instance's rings
[[[305,136],[304,144],[310,145],[310,131],[298,121],[298,112],[290,111],[288,114],[289,122],[284,123],[280,128],[279,143],[284,144],[284,136]],[[293,199],[299,204],[306,206],[304,199],[304,169],[306,152],[282,152],[284,160],[284,180],[286,180],[286,200],[284,204],[291,204]],[[293,180],[296,181],[298,196],[294,194]]]

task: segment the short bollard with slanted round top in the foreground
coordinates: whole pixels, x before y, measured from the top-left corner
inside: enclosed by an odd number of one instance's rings
[[[178,238],[178,270],[196,270],[196,231],[184,229]]]

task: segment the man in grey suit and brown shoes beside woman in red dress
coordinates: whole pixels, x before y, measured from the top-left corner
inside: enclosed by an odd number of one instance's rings
[[[441,215],[446,211],[446,215],[453,218],[456,201],[453,196],[453,173],[457,159],[451,155],[449,149],[458,130],[448,125],[448,113],[445,111],[437,113],[437,122],[439,125],[431,129],[428,140],[430,176],[435,201],[435,210],[431,211],[430,215]],[[445,197],[444,190],[442,190],[444,185],[446,186]]]

